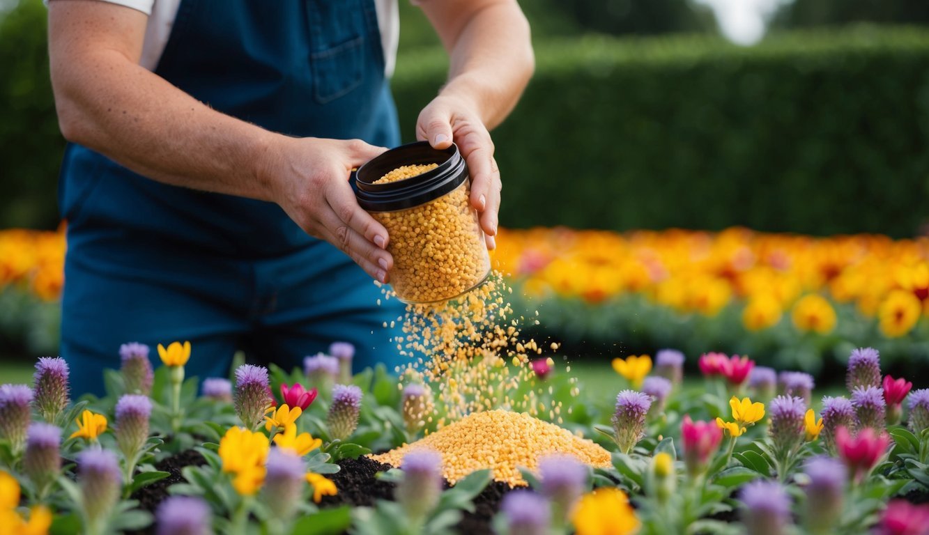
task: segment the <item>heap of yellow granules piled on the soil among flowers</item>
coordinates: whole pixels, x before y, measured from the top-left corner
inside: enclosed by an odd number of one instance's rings
[[[539,458],[549,453],[572,455],[595,467],[610,465],[609,451],[593,441],[529,414],[500,410],[475,412],[412,444],[371,458],[399,466],[408,451],[420,449],[441,454],[442,475],[451,484],[475,470],[490,468],[497,481],[525,486],[518,467],[536,471]]]

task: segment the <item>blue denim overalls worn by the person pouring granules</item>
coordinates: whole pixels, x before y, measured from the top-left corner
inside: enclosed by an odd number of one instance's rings
[[[155,73],[217,111],[298,137],[399,144],[373,0],[182,0]],[[99,393],[119,346],[190,340],[188,374],[232,355],[285,369],[343,340],[355,367],[399,362],[396,300],[274,203],[168,186],[69,145],[61,355]]]

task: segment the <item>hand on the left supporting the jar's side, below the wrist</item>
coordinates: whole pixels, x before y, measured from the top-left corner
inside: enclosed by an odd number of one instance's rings
[[[381,282],[394,260],[387,230],[365,212],[348,184],[352,168],[386,149],[360,139],[279,137],[266,167],[271,198],[310,236],[329,241]]]

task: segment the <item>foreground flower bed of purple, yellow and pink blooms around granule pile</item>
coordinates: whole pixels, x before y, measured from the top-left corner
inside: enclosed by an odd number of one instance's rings
[[[849,356],[848,392],[821,402],[803,372],[721,353],[693,359],[703,379],[689,384],[680,352],[615,359],[609,393],[542,360],[524,386],[566,408],[561,426],[501,403],[441,427],[428,385],[383,368],[337,384],[347,345],[233,381],[185,378],[191,351],[158,346],[152,370],[147,346],[123,346],[104,398],[72,401],[61,359],[40,359],[32,386],[0,385],[0,526],[903,534],[929,518],[913,504],[929,497],[929,390],[884,376],[871,348]]]

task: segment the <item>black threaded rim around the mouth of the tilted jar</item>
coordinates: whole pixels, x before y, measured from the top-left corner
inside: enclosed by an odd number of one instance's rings
[[[438,163],[438,167],[396,182],[373,183],[403,165],[429,163]],[[417,141],[387,150],[361,165],[355,174],[355,196],[369,212],[393,212],[434,201],[461,186],[467,177],[467,165],[454,143],[439,150],[428,141]]]

